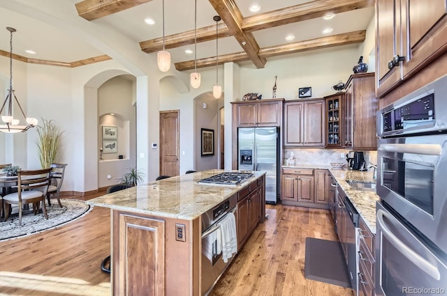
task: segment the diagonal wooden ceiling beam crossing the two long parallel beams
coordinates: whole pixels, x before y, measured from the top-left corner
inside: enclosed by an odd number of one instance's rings
[[[244,52],[247,53],[247,56],[249,56],[249,59],[254,63],[256,68],[264,68],[267,60],[258,55],[259,45],[258,42],[256,42],[253,33],[246,33],[242,30],[244,17],[242,17],[242,13],[239,8],[237,8],[234,0],[210,0],[210,3],[226,24],[230,34],[236,38],[237,42],[242,46]]]

